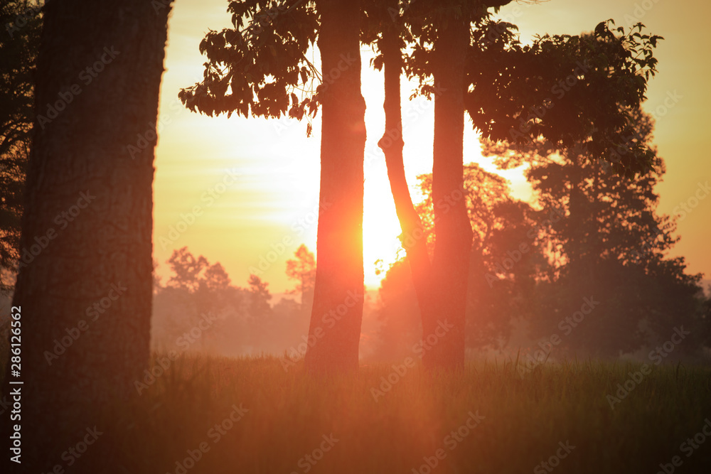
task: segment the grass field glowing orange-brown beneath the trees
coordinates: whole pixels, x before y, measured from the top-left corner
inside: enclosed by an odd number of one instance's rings
[[[317,379],[277,358],[182,357],[109,415],[133,420],[110,438],[137,473],[710,472],[711,369],[646,372],[383,364]]]

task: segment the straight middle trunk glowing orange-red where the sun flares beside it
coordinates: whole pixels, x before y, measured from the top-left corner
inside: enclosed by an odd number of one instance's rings
[[[306,369],[353,372],[363,317],[363,150],[360,2],[321,0],[319,49],[324,84],[321,210],[316,284]]]

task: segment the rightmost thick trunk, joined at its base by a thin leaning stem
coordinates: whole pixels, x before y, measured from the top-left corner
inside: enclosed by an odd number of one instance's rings
[[[450,10],[451,11],[451,10]],[[452,12],[434,43],[434,165],[432,202],[437,240],[432,259],[434,311],[422,311],[426,367],[464,365],[464,313],[471,224],[464,200],[464,60],[469,20]]]

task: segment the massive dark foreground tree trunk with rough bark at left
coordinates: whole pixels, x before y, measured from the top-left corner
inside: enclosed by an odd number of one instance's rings
[[[92,436],[72,472],[119,472],[123,463],[108,456],[121,450],[100,411],[135,396],[149,362],[155,123],[169,9],[170,0],[46,4],[13,300],[22,362],[20,375],[6,374],[23,382],[10,388],[22,394],[24,472],[68,468],[63,452]]]

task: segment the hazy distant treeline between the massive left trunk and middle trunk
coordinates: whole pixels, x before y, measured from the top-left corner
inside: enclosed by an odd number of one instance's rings
[[[299,294],[272,303],[269,284],[250,275],[245,288],[231,284],[219,263],[210,264],[186,247],[168,260],[166,284],[154,279],[151,343],[156,349],[247,355],[282,353],[299,345],[308,330],[313,299],[313,254],[302,246],[287,275]],[[309,265],[310,263],[310,265]],[[299,271],[301,270],[301,271]],[[296,290],[292,291],[296,293]]]

